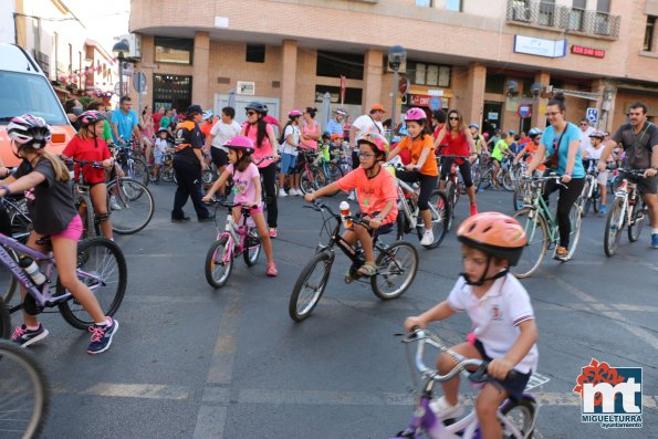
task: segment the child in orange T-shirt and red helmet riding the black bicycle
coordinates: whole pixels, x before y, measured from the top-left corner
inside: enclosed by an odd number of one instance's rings
[[[345,231],[343,239],[351,244],[356,240],[361,242],[365,263],[358,269],[358,274],[370,276],[377,271],[373,236],[375,232],[383,234],[393,229],[397,218],[397,187],[395,177],[382,167],[388,150],[386,137],[378,133],[365,133],[358,137],[356,145],[361,166],[338,181],[313,194],[306,194],[304,200],[313,202],[316,198],[334,194],[338,189],[345,192],[356,189],[362,220],[367,221],[369,228],[354,223]]]

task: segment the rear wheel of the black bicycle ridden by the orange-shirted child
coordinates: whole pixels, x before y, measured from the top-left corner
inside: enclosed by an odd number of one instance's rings
[[[375,264],[377,274],[370,278],[375,295],[384,301],[397,299],[414,283],[418,272],[418,251],[407,242],[394,242],[384,249]]]

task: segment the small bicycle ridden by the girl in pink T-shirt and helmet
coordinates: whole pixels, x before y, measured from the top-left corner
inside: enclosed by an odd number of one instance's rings
[[[251,219],[251,206],[242,203],[229,203],[219,200],[211,201],[217,207],[220,205],[228,208],[224,230],[220,230],[217,222],[219,216],[215,215],[217,238],[206,254],[206,280],[215,289],[222,288],[233,269],[233,260],[242,254],[247,266],[255,265],[261,251],[261,239],[258,229]],[[233,219],[233,208],[241,208],[241,223]]]

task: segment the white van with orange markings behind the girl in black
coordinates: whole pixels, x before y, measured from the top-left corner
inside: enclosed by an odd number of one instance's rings
[[[0,157],[4,166],[18,166],[7,125],[25,113],[43,117],[52,128],[46,148],[61,153],[75,135],[62,104],[32,56],[15,44],[0,43]]]

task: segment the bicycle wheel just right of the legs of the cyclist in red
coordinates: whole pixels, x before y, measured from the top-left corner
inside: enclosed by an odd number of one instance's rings
[[[107,185],[107,210],[112,212],[112,230],[132,234],[144,229],[153,218],[153,195],[139,181],[119,178]]]

